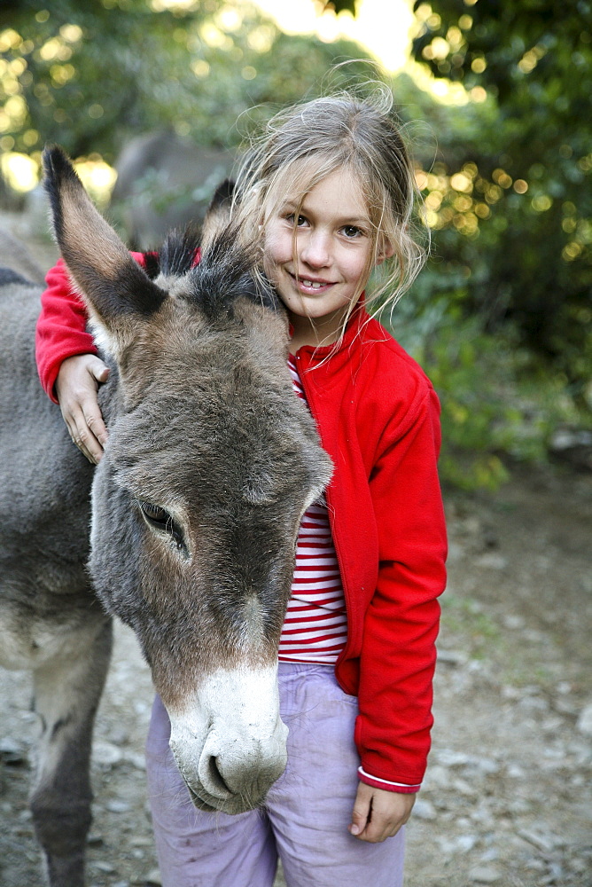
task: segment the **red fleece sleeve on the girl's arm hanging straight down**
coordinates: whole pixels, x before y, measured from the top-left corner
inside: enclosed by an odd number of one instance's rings
[[[370,475],[378,583],[364,621],[355,736],[362,781],[398,791],[417,790],[425,773],[446,583],[440,404],[432,388],[418,395],[404,422],[386,428]]]

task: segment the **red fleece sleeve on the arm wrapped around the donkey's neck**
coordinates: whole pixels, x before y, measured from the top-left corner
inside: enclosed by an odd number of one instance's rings
[[[144,265],[143,254],[131,255]],[[45,283],[35,333],[35,358],[43,389],[57,404],[54,387],[62,361],[75,354],[97,354],[97,348],[86,328],[86,306],[74,290],[63,259],[48,271]]]

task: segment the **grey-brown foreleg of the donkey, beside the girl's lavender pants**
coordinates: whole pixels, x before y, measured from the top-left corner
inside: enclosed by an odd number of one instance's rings
[[[43,733],[30,804],[51,887],[84,883],[92,728],[111,655],[111,623],[97,616],[71,640],[66,655],[55,656],[34,675]]]

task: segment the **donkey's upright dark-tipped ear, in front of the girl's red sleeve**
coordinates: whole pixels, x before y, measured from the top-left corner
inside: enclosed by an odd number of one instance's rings
[[[159,310],[167,294],[97,212],[61,148],[45,149],[43,169],[53,229],[67,269],[91,319],[117,354],[129,341],[133,321]]]

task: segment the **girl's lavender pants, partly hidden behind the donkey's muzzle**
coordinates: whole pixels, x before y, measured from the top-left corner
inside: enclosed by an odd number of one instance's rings
[[[259,810],[196,810],[168,748],[157,696],[146,747],[152,823],[163,887],[272,887],[277,857],[288,887],[401,887],[403,829],[382,844],[347,831],[359,758],[357,700],[331,666],[280,663],[288,765]]]

